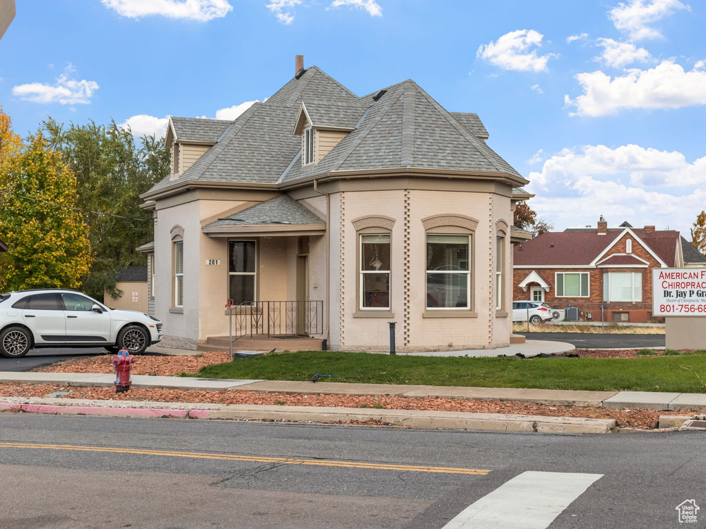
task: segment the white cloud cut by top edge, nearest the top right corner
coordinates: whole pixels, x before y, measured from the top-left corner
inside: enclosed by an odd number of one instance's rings
[[[633,40],[654,39],[662,34],[651,27],[652,23],[671,15],[678,9],[690,9],[679,0],[628,0],[608,12],[618,30],[626,32]]]

